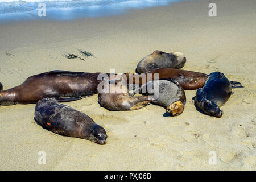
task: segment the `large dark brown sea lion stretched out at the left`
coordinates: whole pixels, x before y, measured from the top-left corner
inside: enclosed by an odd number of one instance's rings
[[[100,73],[51,71],[28,77],[23,84],[0,92],[0,106],[34,104],[42,98],[59,102],[79,100],[96,94]]]

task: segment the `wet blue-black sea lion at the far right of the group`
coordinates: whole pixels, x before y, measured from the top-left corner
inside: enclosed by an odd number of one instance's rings
[[[232,85],[228,78],[221,72],[210,73],[204,87],[196,92],[196,105],[205,114],[220,118],[223,111],[220,106],[228,101],[232,94]]]

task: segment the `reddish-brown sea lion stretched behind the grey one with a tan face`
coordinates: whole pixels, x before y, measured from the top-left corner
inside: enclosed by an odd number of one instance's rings
[[[142,74],[133,74],[133,73],[123,73],[125,76],[125,81],[127,84],[137,84],[143,85],[148,81],[155,80],[155,73],[158,73],[157,79],[168,78],[171,80],[175,80],[179,82],[180,86],[184,90],[196,90],[202,88],[204,86],[204,82],[207,80],[209,75],[200,72],[187,71],[184,69],[175,69],[175,68],[160,68],[160,69],[152,69],[148,73]],[[145,79],[142,79],[146,77]],[[120,80],[115,79],[115,82]],[[110,80],[113,82],[113,80]],[[232,84],[232,88],[243,88],[240,82],[230,81]]]

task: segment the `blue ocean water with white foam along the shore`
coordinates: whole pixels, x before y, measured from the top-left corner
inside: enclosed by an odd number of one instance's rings
[[[166,6],[179,0],[0,0],[0,22],[109,16],[130,9]],[[44,9],[45,7],[45,9]]]

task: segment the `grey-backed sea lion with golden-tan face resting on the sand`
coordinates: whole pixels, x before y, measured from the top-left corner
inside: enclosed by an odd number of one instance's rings
[[[167,79],[150,81],[141,86],[140,92],[145,94],[143,90],[147,90],[147,88],[154,88],[154,92],[158,92],[157,94],[154,93],[156,96],[152,100],[154,104],[166,107],[167,113],[172,116],[183,113],[186,96],[184,89],[177,81]]]

